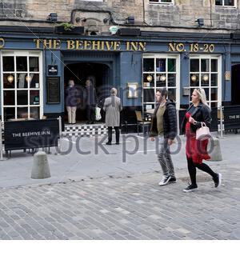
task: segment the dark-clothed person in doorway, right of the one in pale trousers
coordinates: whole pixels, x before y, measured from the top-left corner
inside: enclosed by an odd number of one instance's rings
[[[87,123],[93,124],[95,120],[96,90],[93,82],[86,79],[86,118]]]

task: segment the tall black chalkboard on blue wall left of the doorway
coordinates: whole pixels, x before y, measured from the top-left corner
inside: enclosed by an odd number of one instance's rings
[[[60,78],[59,77],[48,77],[47,78],[47,104],[58,104],[60,103]]]

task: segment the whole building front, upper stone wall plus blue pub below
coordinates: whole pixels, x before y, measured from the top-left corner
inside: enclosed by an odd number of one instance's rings
[[[204,88],[217,122],[220,106],[240,106],[239,6],[240,0],[3,1],[1,119],[62,116],[66,123],[72,79],[81,95],[77,122],[84,123],[90,78],[100,107],[110,88],[118,89],[122,124],[136,123],[135,110],[143,117],[153,110],[162,87],[179,122],[192,90]]]

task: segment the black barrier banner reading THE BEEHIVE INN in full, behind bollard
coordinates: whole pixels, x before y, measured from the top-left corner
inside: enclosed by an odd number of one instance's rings
[[[58,119],[4,122],[5,150],[58,146]]]

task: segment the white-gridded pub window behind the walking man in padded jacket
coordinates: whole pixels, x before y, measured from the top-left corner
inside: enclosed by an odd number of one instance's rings
[[[146,54],[142,61],[143,109],[153,109],[157,89],[166,87],[168,98],[179,106],[179,64],[177,55]]]

